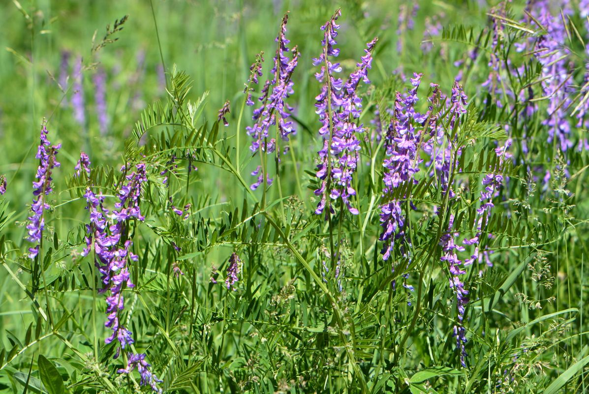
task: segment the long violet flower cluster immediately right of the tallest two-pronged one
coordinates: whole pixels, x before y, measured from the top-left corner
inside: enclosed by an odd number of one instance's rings
[[[413,74],[412,88],[402,97],[397,93],[393,119],[389,126],[385,139],[386,158],[383,160],[385,172],[383,175],[383,199],[386,201],[380,206],[380,226],[382,233],[379,240],[383,242],[383,260],[391,256],[396,239],[405,238],[405,216],[402,214],[401,200],[388,197],[395,192],[404,182],[415,182],[413,175],[419,172],[421,159],[417,155],[417,147],[420,133],[416,132],[412,122],[423,122],[423,116],[415,112],[414,106],[418,101],[417,90],[422,74]],[[394,267],[393,267],[394,270]]]

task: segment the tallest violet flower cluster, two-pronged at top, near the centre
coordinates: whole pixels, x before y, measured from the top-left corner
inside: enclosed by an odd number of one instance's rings
[[[357,124],[362,111],[362,98],[358,97],[356,90],[360,81],[369,84],[368,70],[372,67],[372,50],[375,47],[374,40],[366,44],[365,55],[356,64],[356,71],[350,74],[346,83],[334,75],[342,71],[339,63],[332,63],[330,57],[337,57],[339,49],[335,48],[337,42],[337,18],[342,12],[338,9],[333,17],[321,27],[325,31],[321,44],[323,52],[318,58],[313,58],[314,65],[322,65],[319,73],[315,74],[317,80],[322,83],[321,93],[315,97],[317,102],[315,111],[319,115],[322,126],[319,134],[323,138],[323,147],[319,150],[319,164],[317,165],[317,178],[320,186],[315,195],[321,196],[315,213],[323,213],[328,206],[326,219],[329,213],[334,214],[332,200],[341,199],[350,213],[358,214],[358,209],[353,208],[350,196],[356,195],[352,187],[352,175],[356,171],[358,163],[358,151],[360,141],[358,133],[364,131],[362,124]],[[329,203],[327,196],[329,195]]]

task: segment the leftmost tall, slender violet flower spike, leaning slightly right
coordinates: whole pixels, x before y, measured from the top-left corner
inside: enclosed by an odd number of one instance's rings
[[[47,139],[47,127],[45,122],[41,126],[41,142],[37,149],[37,155],[35,157],[39,159],[39,166],[37,168],[37,175],[33,182],[33,195],[37,199],[33,199],[31,204],[31,216],[28,217],[29,224],[27,225],[28,240],[33,242],[34,247],[29,248],[29,257],[34,259],[39,254],[39,244],[41,243],[41,237],[43,230],[45,229],[44,212],[50,208],[45,198],[53,191],[51,187],[51,178],[53,169],[59,167],[59,162],[56,157],[61,148],[61,144],[51,145]]]

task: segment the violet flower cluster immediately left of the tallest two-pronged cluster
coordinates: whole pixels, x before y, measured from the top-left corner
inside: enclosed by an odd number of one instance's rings
[[[276,151],[277,155],[280,155],[279,143],[276,139],[270,138],[270,127],[277,127],[277,135],[279,135],[280,139],[283,141],[288,141],[289,134],[295,132],[293,122],[292,120],[289,120],[293,108],[286,104],[285,101],[294,93],[294,83],[291,80],[291,77],[294,69],[299,63],[299,51],[295,46],[292,49],[292,57],[289,57],[286,54],[291,51],[290,48],[287,47],[290,40],[288,40],[285,35],[287,21],[288,14],[284,14],[282,23],[280,24],[279,34],[275,40],[278,43],[278,46],[273,58],[274,67],[270,70],[272,80],[267,80],[262,88],[259,97],[260,106],[253,111],[253,126],[246,127],[247,134],[253,139],[250,150],[254,155],[256,152],[266,152],[270,154],[274,151]],[[254,67],[254,65],[252,67]],[[253,70],[253,81],[257,83],[257,78],[262,75],[262,71],[260,67]],[[249,93],[246,104],[249,106],[253,105]],[[256,182],[250,186],[250,188],[255,190],[260,183],[261,182]]]

